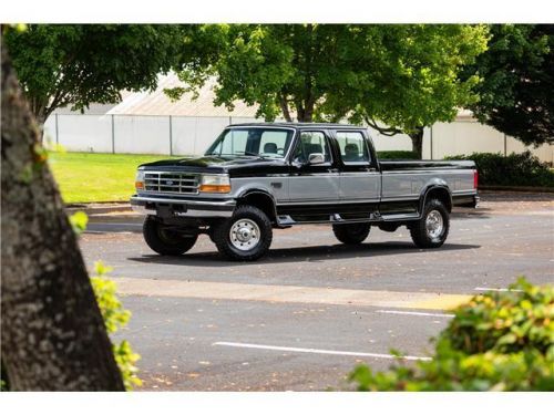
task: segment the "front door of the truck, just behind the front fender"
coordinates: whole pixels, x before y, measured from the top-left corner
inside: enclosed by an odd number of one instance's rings
[[[339,199],[339,170],[324,131],[300,131],[293,149],[290,204],[334,204]],[[325,162],[310,164],[310,154],[322,154]]]

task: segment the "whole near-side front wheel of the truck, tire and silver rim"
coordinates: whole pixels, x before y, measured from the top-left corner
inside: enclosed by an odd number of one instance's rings
[[[254,261],[264,256],[273,239],[271,222],[254,206],[239,206],[233,217],[214,225],[217,250],[230,260]]]

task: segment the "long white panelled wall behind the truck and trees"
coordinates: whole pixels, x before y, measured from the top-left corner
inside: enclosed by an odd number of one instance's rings
[[[58,120],[58,128],[57,128]],[[113,129],[112,129],[113,122]],[[263,122],[248,117],[179,117],[131,115],[58,114],[47,120],[47,139],[69,152],[135,154],[204,154],[209,144],[229,124]],[[171,126],[171,131],[170,131]],[[377,151],[410,151],[407,135],[383,136],[370,129]],[[170,134],[171,133],[171,134]],[[432,136],[432,139],[431,139]],[[112,148],[113,144],[113,148]],[[432,147],[432,148],[431,148]],[[469,153],[521,153],[525,146],[494,128],[471,118],[437,123],[423,134],[423,158]],[[544,162],[554,163],[554,145],[530,147]]]

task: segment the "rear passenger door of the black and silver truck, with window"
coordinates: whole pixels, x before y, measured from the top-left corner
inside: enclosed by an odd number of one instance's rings
[[[381,177],[371,156],[369,138],[361,131],[340,129],[335,132],[335,137],[341,158],[340,204],[378,204]]]

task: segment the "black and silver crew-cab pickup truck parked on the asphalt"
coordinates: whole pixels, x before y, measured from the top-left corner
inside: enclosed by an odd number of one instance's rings
[[[273,229],[304,224],[351,245],[372,226],[406,226],[416,246],[438,248],[452,206],[479,203],[473,162],[379,160],[368,131],[342,124],[229,125],[204,156],[138,166],[135,188],[155,252],[182,255],[207,234],[240,261],[264,256]]]

